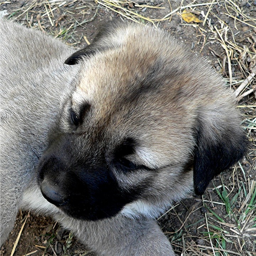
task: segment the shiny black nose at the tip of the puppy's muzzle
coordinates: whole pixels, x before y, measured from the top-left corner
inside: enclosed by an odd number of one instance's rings
[[[67,202],[67,198],[58,192],[58,187],[48,182],[47,178],[41,183],[41,192],[44,198],[55,206],[62,206]]]

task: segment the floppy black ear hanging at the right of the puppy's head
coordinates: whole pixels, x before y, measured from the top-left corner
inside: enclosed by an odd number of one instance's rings
[[[206,127],[199,122],[194,154],[194,190],[202,195],[214,176],[231,167],[246,153],[247,140],[237,123]]]

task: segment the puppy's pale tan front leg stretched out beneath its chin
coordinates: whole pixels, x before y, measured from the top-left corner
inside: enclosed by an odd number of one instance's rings
[[[123,216],[96,222],[57,219],[100,256],[175,256],[154,220]]]

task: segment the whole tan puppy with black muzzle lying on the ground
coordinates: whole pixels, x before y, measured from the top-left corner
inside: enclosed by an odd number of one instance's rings
[[[220,76],[134,23],[109,23],[75,53],[3,20],[0,38],[1,244],[21,207],[101,256],[173,256],[154,218],[246,151]]]

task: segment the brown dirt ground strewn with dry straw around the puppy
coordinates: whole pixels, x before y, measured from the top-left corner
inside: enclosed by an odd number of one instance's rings
[[[188,23],[184,10],[200,21]],[[0,13],[74,48],[86,46],[113,18],[153,23],[207,56],[236,91],[251,144],[246,158],[202,197],[177,202],[158,223],[177,255],[256,255],[256,79],[246,81],[256,73],[256,1],[0,1]],[[1,256],[11,255],[16,239],[15,256],[93,255],[58,223],[33,213],[20,211]]]

